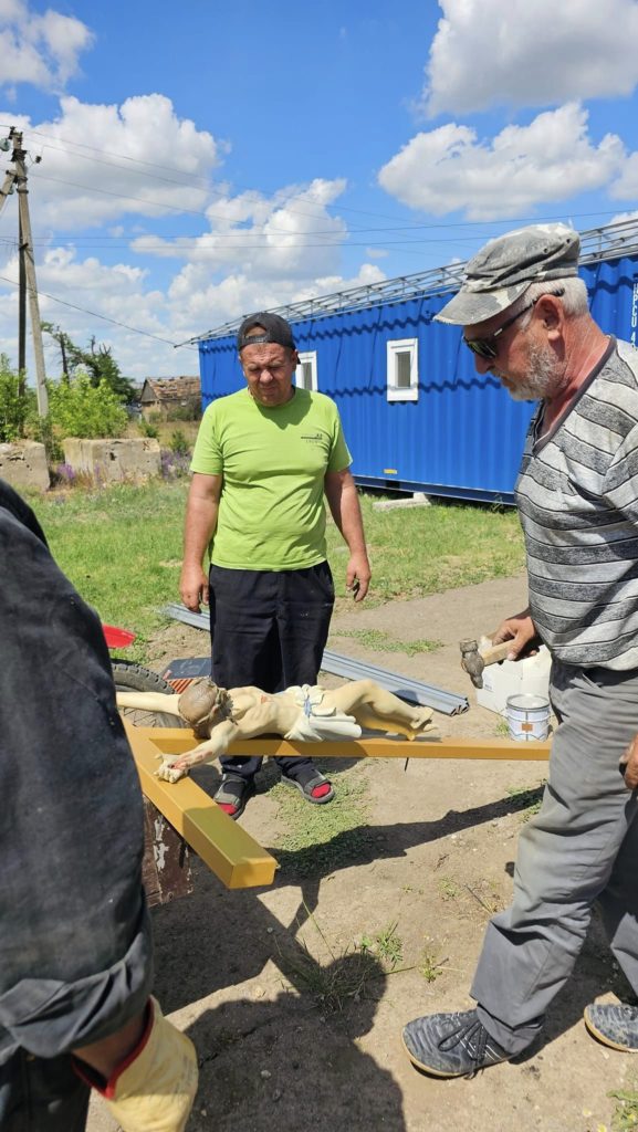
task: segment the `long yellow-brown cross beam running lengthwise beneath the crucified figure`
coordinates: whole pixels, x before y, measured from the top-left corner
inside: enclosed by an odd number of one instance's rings
[[[184,754],[201,741],[188,728],[138,727],[136,731],[152,736],[158,751],[165,755]],[[260,738],[231,743],[228,754],[267,755],[271,758],[273,755],[306,755],[311,758],[497,758],[544,762],[550,757],[551,746],[550,740],[539,739],[518,743],[516,739],[424,737],[410,741],[383,736],[340,739],[339,743],[291,743],[281,738]]]

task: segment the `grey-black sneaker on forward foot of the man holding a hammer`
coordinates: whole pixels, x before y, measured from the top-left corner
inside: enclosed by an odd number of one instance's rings
[[[513,1057],[490,1037],[475,1010],[415,1018],[403,1030],[403,1045],[412,1064],[435,1077],[474,1077]]]

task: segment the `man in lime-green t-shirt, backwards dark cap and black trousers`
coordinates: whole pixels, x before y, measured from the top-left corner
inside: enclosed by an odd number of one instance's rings
[[[315,684],[321,667],[334,604],[324,495],[350,551],[355,601],[371,569],[339,412],[330,397],[292,384],[299,357],[289,324],[253,315],[237,349],[247,388],[209,405],[193,453],[180,591],[188,609],[210,603],[215,683],[274,693]],[[262,760],[220,762],[215,801],[239,817]],[[307,801],[334,797],[312,760],[277,762]]]

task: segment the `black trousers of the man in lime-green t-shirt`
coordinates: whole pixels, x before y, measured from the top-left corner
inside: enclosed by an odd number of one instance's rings
[[[307,569],[245,571],[211,566],[213,680],[222,688],[255,685],[282,692],[316,684],[334,606],[327,563]],[[224,771],[253,778],[262,758],[223,755]],[[309,758],[278,758],[295,778]]]

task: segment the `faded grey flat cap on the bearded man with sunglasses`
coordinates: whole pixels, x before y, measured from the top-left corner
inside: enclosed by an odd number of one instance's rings
[[[474,326],[511,307],[530,283],[578,275],[580,238],[567,224],[533,224],[490,240],[469,260],[461,290],[435,319]]]

